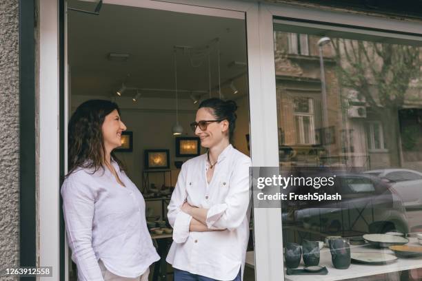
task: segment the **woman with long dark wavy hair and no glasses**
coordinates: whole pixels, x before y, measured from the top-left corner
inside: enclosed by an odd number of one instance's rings
[[[77,107],[68,125],[69,173],[63,213],[79,281],[148,281],[159,260],[145,220],[145,201],[113,149],[126,126],[111,101]]]

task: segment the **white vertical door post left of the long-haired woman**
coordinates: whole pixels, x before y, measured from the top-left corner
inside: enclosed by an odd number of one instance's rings
[[[39,267],[59,276],[59,13],[57,0],[39,1]],[[51,278],[39,278],[50,280]]]

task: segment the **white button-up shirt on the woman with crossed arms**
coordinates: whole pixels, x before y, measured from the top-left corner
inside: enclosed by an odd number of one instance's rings
[[[207,155],[192,158],[181,167],[177,185],[168,206],[173,243],[167,262],[174,268],[217,280],[233,280],[245,266],[249,240],[251,161],[232,145],[217,159],[208,184]],[[192,216],[181,211],[183,202],[208,209],[209,229],[189,231]]]

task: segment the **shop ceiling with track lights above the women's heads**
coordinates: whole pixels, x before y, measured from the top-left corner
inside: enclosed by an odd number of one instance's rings
[[[94,10],[95,3],[70,1],[69,7]],[[68,11],[68,56],[71,93],[110,96],[122,81],[130,87],[174,89],[173,46],[200,47],[219,37],[221,82],[234,81],[247,94],[245,22],[241,19],[150,10],[103,4],[99,16]],[[125,62],[108,61],[110,52],[128,53]],[[177,54],[178,88],[208,91],[208,59],[192,67],[188,56]],[[130,77],[127,78],[127,74]],[[243,75],[242,75],[243,74]],[[218,88],[217,52],[211,54],[212,87]],[[228,83],[225,98],[236,98]],[[134,91],[125,95],[134,95]],[[144,92],[143,96],[174,98],[174,92]],[[188,93],[181,93],[188,98]]]

